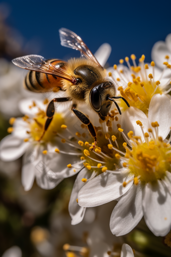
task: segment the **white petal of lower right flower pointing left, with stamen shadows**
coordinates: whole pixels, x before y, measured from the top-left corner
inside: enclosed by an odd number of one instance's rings
[[[120,169],[120,171],[125,169]],[[133,178],[132,175],[102,173],[84,185],[78,193],[78,204],[83,207],[95,207],[109,203],[124,195],[133,180],[123,187],[123,182]]]

